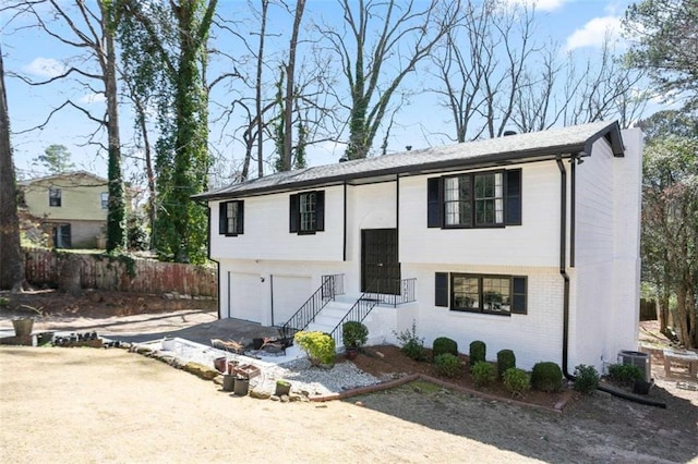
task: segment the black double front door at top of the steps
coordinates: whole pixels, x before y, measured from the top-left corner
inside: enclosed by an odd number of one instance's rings
[[[400,294],[397,229],[361,231],[361,291]]]

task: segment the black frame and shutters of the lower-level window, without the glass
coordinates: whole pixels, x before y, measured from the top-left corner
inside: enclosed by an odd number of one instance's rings
[[[478,280],[478,307],[477,308],[468,308],[468,307],[457,307],[456,306],[456,297],[454,294],[454,280],[456,278],[469,278]],[[483,280],[484,279],[502,279],[509,281],[509,310],[508,312],[497,312],[491,309],[484,309],[483,301],[484,301],[484,290],[483,290]],[[443,283],[447,282],[446,285]],[[522,292],[515,292],[515,286],[522,284]],[[473,273],[473,272],[436,272],[434,280],[434,305],[441,307],[447,307],[452,312],[456,313],[474,313],[474,314],[486,314],[486,315],[495,315],[495,316],[508,316],[512,315],[527,315],[528,314],[528,277],[527,276],[509,276],[509,274],[496,274],[496,273]],[[520,304],[517,304],[515,301],[515,296],[522,297],[522,301],[519,301]],[[518,301],[518,300],[517,300]]]

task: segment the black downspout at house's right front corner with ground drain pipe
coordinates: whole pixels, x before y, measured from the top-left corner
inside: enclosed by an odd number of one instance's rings
[[[559,274],[564,281],[564,294],[563,294],[563,375],[567,380],[574,381],[575,376],[569,374],[569,276],[567,274],[567,171],[563,163],[562,155],[557,155],[556,160],[557,168],[559,169]],[[575,157],[571,158],[573,166],[576,162]],[[574,168],[573,168],[574,173]],[[573,182],[575,180],[573,179]],[[575,198],[573,198],[574,200]],[[573,206],[574,207],[574,206]],[[574,228],[574,223],[573,223]],[[574,235],[573,235],[574,236]],[[636,403],[646,404],[648,406],[657,406],[666,408],[666,403],[660,401],[653,401],[646,398],[640,398],[633,394],[627,394],[622,391],[612,390],[603,386],[597,387],[598,390],[611,393],[614,396],[622,398],[624,400],[630,400]]]

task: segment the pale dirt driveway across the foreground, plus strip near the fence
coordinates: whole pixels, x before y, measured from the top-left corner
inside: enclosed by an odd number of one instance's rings
[[[141,317],[55,314],[39,330],[160,334],[214,315]],[[278,403],[124,350],[3,346],[0,462],[698,462],[698,392],[671,387],[667,410],[597,393],[555,414],[429,383]]]

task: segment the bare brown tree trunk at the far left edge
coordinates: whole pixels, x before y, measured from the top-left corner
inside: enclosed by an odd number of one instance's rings
[[[20,247],[14,163],[10,145],[10,115],[0,48],[0,290],[19,291],[24,282]]]

